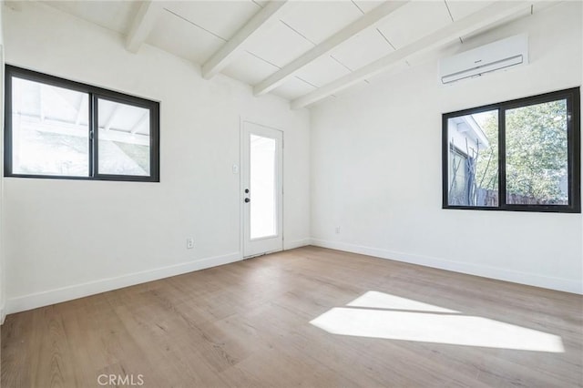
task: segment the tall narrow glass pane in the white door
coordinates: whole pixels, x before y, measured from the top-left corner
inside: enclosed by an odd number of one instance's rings
[[[251,135],[251,239],[277,235],[276,142]]]

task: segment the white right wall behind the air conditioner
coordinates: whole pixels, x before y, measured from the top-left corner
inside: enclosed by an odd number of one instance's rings
[[[441,209],[441,114],[580,86],[581,15],[553,5],[443,53],[527,32],[528,66],[441,87],[434,60],[312,108],[313,243],[583,292],[581,214]]]

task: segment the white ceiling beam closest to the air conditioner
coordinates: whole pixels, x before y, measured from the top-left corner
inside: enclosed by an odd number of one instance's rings
[[[496,23],[498,20],[514,15],[525,7],[530,7],[530,5],[536,1],[537,0],[527,2],[496,2],[493,5],[489,5],[472,15],[468,15],[463,19],[435,31],[435,33],[429,36],[424,36],[407,46],[399,48],[387,56],[384,56],[367,66],[363,66],[345,77],[341,77],[324,87],[320,87],[312,93],[294,99],[292,101],[292,108],[298,109],[307,107],[322,98],[328,97],[346,87],[350,87],[363,79],[366,79],[366,77],[373,77],[376,74],[384,72],[405,60],[408,56],[420,54],[426,50],[445,45],[458,39],[458,36],[465,36],[472,31],[484,28],[485,26]]]

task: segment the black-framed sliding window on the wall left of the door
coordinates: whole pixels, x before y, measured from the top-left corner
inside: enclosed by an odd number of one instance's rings
[[[159,103],[6,65],[5,176],[159,182]]]

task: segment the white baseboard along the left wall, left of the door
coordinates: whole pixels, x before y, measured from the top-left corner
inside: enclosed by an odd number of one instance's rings
[[[76,284],[73,286],[32,293],[6,300],[5,310],[3,312],[6,314],[12,314],[19,311],[32,310],[38,307],[60,303],[62,301],[71,301],[89,295],[95,295],[101,292],[117,290],[140,283],[145,283],[147,281],[158,281],[159,279],[169,278],[170,276],[204,270],[210,267],[229,264],[239,260],[242,260],[241,253],[234,252],[223,256],[215,256],[206,259],[193,260],[185,263],[170,265],[168,267],[161,267],[155,270],[139,271],[114,278],[101,279],[98,281],[88,281],[86,283]]]

